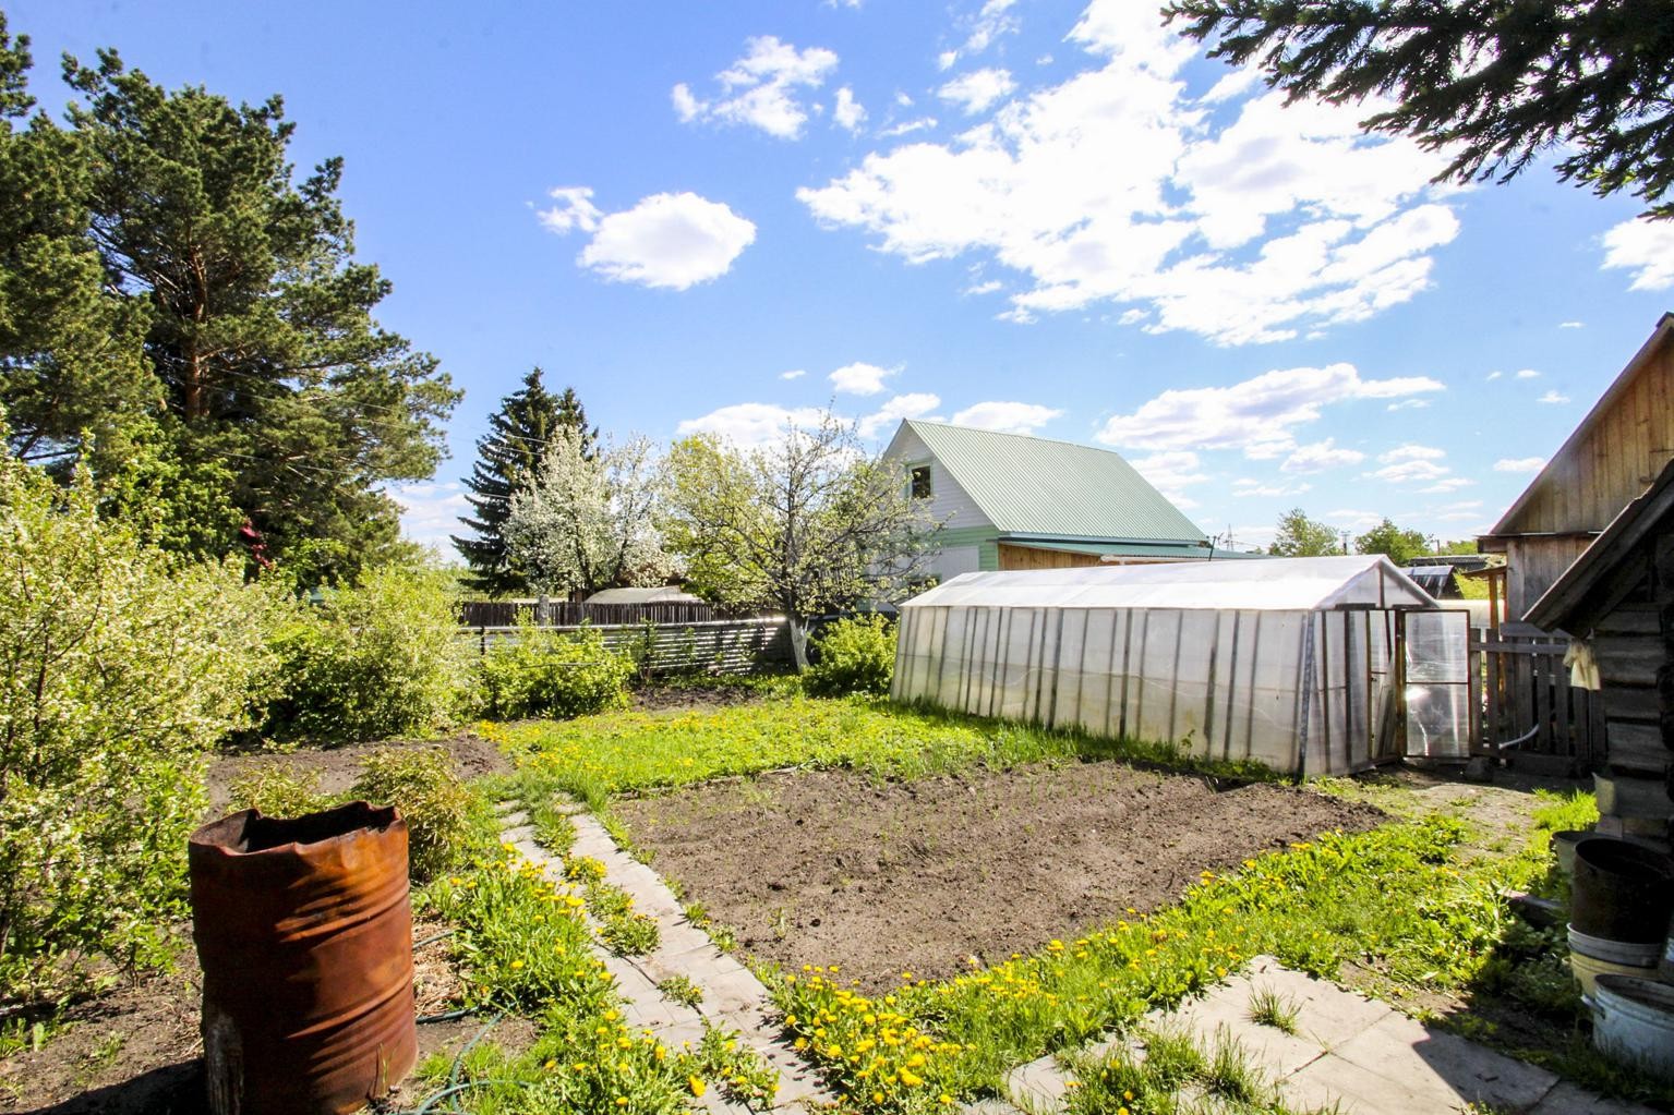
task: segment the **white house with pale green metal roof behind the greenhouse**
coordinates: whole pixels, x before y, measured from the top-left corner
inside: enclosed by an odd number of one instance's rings
[[[931,571],[1220,558],[1209,537],[1108,449],[906,420],[884,450],[942,522]]]

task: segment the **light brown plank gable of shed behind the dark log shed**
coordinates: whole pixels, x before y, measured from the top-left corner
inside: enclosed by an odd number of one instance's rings
[[[1597,405],[1478,539],[1507,558],[1507,613],[1533,608],[1674,459],[1674,315],[1666,313]]]

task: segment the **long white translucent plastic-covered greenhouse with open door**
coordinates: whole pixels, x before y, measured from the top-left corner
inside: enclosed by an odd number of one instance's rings
[[[892,695],[1348,773],[1463,757],[1466,638],[1376,554],[968,573],[901,606]]]

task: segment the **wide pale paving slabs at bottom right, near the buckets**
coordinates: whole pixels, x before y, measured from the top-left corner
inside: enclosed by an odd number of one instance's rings
[[[1297,1033],[1286,1035],[1250,1020],[1250,996],[1274,991],[1297,1010]],[[1478,1103],[1493,1112],[1527,1115],[1654,1115],[1651,1108],[1590,1095],[1543,1068],[1487,1050],[1451,1033],[1430,1030],[1399,1011],[1282,968],[1271,956],[1204,998],[1148,1016],[1152,1030],[1185,1031],[1200,1046],[1227,1038],[1279,1085],[1297,1110],[1331,1108],[1343,1115],[1433,1115]],[[1088,1051],[1108,1055],[1113,1043]],[[971,1105],[973,1115],[1063,1107],[1068,1076],[1045,1056],[1011,1071],[1011,1103]]]

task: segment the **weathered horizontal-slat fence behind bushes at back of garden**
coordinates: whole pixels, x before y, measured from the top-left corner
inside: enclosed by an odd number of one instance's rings
[[[644,673],[750,673],[763,663],[790,661],[790,628],[783,616],[713,619],[700,623],[589,623],[614,651],[644,655]],[[547,628],[542,628],[547,629]],[[581,624],[554,624],[554,631],[579,631]],[[480,653],[501,640],[516,640],[519,628],[482,624],[465,628]],[[646,638],[650,636],[650,648]]]

